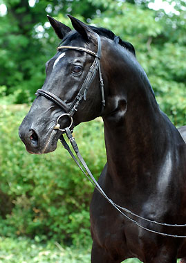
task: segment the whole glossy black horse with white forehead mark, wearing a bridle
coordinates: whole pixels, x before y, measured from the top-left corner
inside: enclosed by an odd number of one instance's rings
[[[46,63],[46,81],[19,136],[28,152],[48,153],[67,126],[102,116],[107,163],[99,184],[114,203],[140,217],[125,212],[133,221],[127,219],[95,190],[91,262],[185,262],[185,128],[179,133],[160,111],[131,44],[69,17],[75,30],[48,17],[62,43]]]

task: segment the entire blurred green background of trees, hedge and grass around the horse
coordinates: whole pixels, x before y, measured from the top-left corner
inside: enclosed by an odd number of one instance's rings
[[[90,261],[92,185],[61,145],[30,155],[18,136],[59,44],[46,15],[71,27],[67,13],[131,42],[160,108],[176,127],[186,124],[185,1],[0,0],[0,262]],[[83,123],[75,138],[97,178],[102,121]]]

